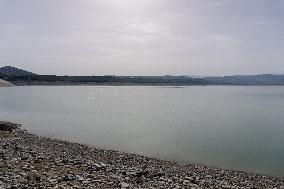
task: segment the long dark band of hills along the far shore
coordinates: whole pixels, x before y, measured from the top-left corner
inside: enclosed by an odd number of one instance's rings
[[[19,68],[0,68],[0,79],[15,85],[282,85],[284,75],[206,76],[56,76],[37,75]]]

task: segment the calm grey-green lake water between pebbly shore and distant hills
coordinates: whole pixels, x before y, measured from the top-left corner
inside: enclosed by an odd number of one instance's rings
[[[0,88],[0,120],[43,136],[284,177],[284,87]]]

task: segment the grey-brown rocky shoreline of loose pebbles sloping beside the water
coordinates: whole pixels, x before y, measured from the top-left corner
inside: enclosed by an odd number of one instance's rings
[[[0,189],[279,188],[284,180],[97,149],[0,122]]]

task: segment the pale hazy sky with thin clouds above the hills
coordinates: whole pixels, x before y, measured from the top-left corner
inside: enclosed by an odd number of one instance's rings
[[[0,66],[58,75],[284,73],[284,0],[0,0]]]

